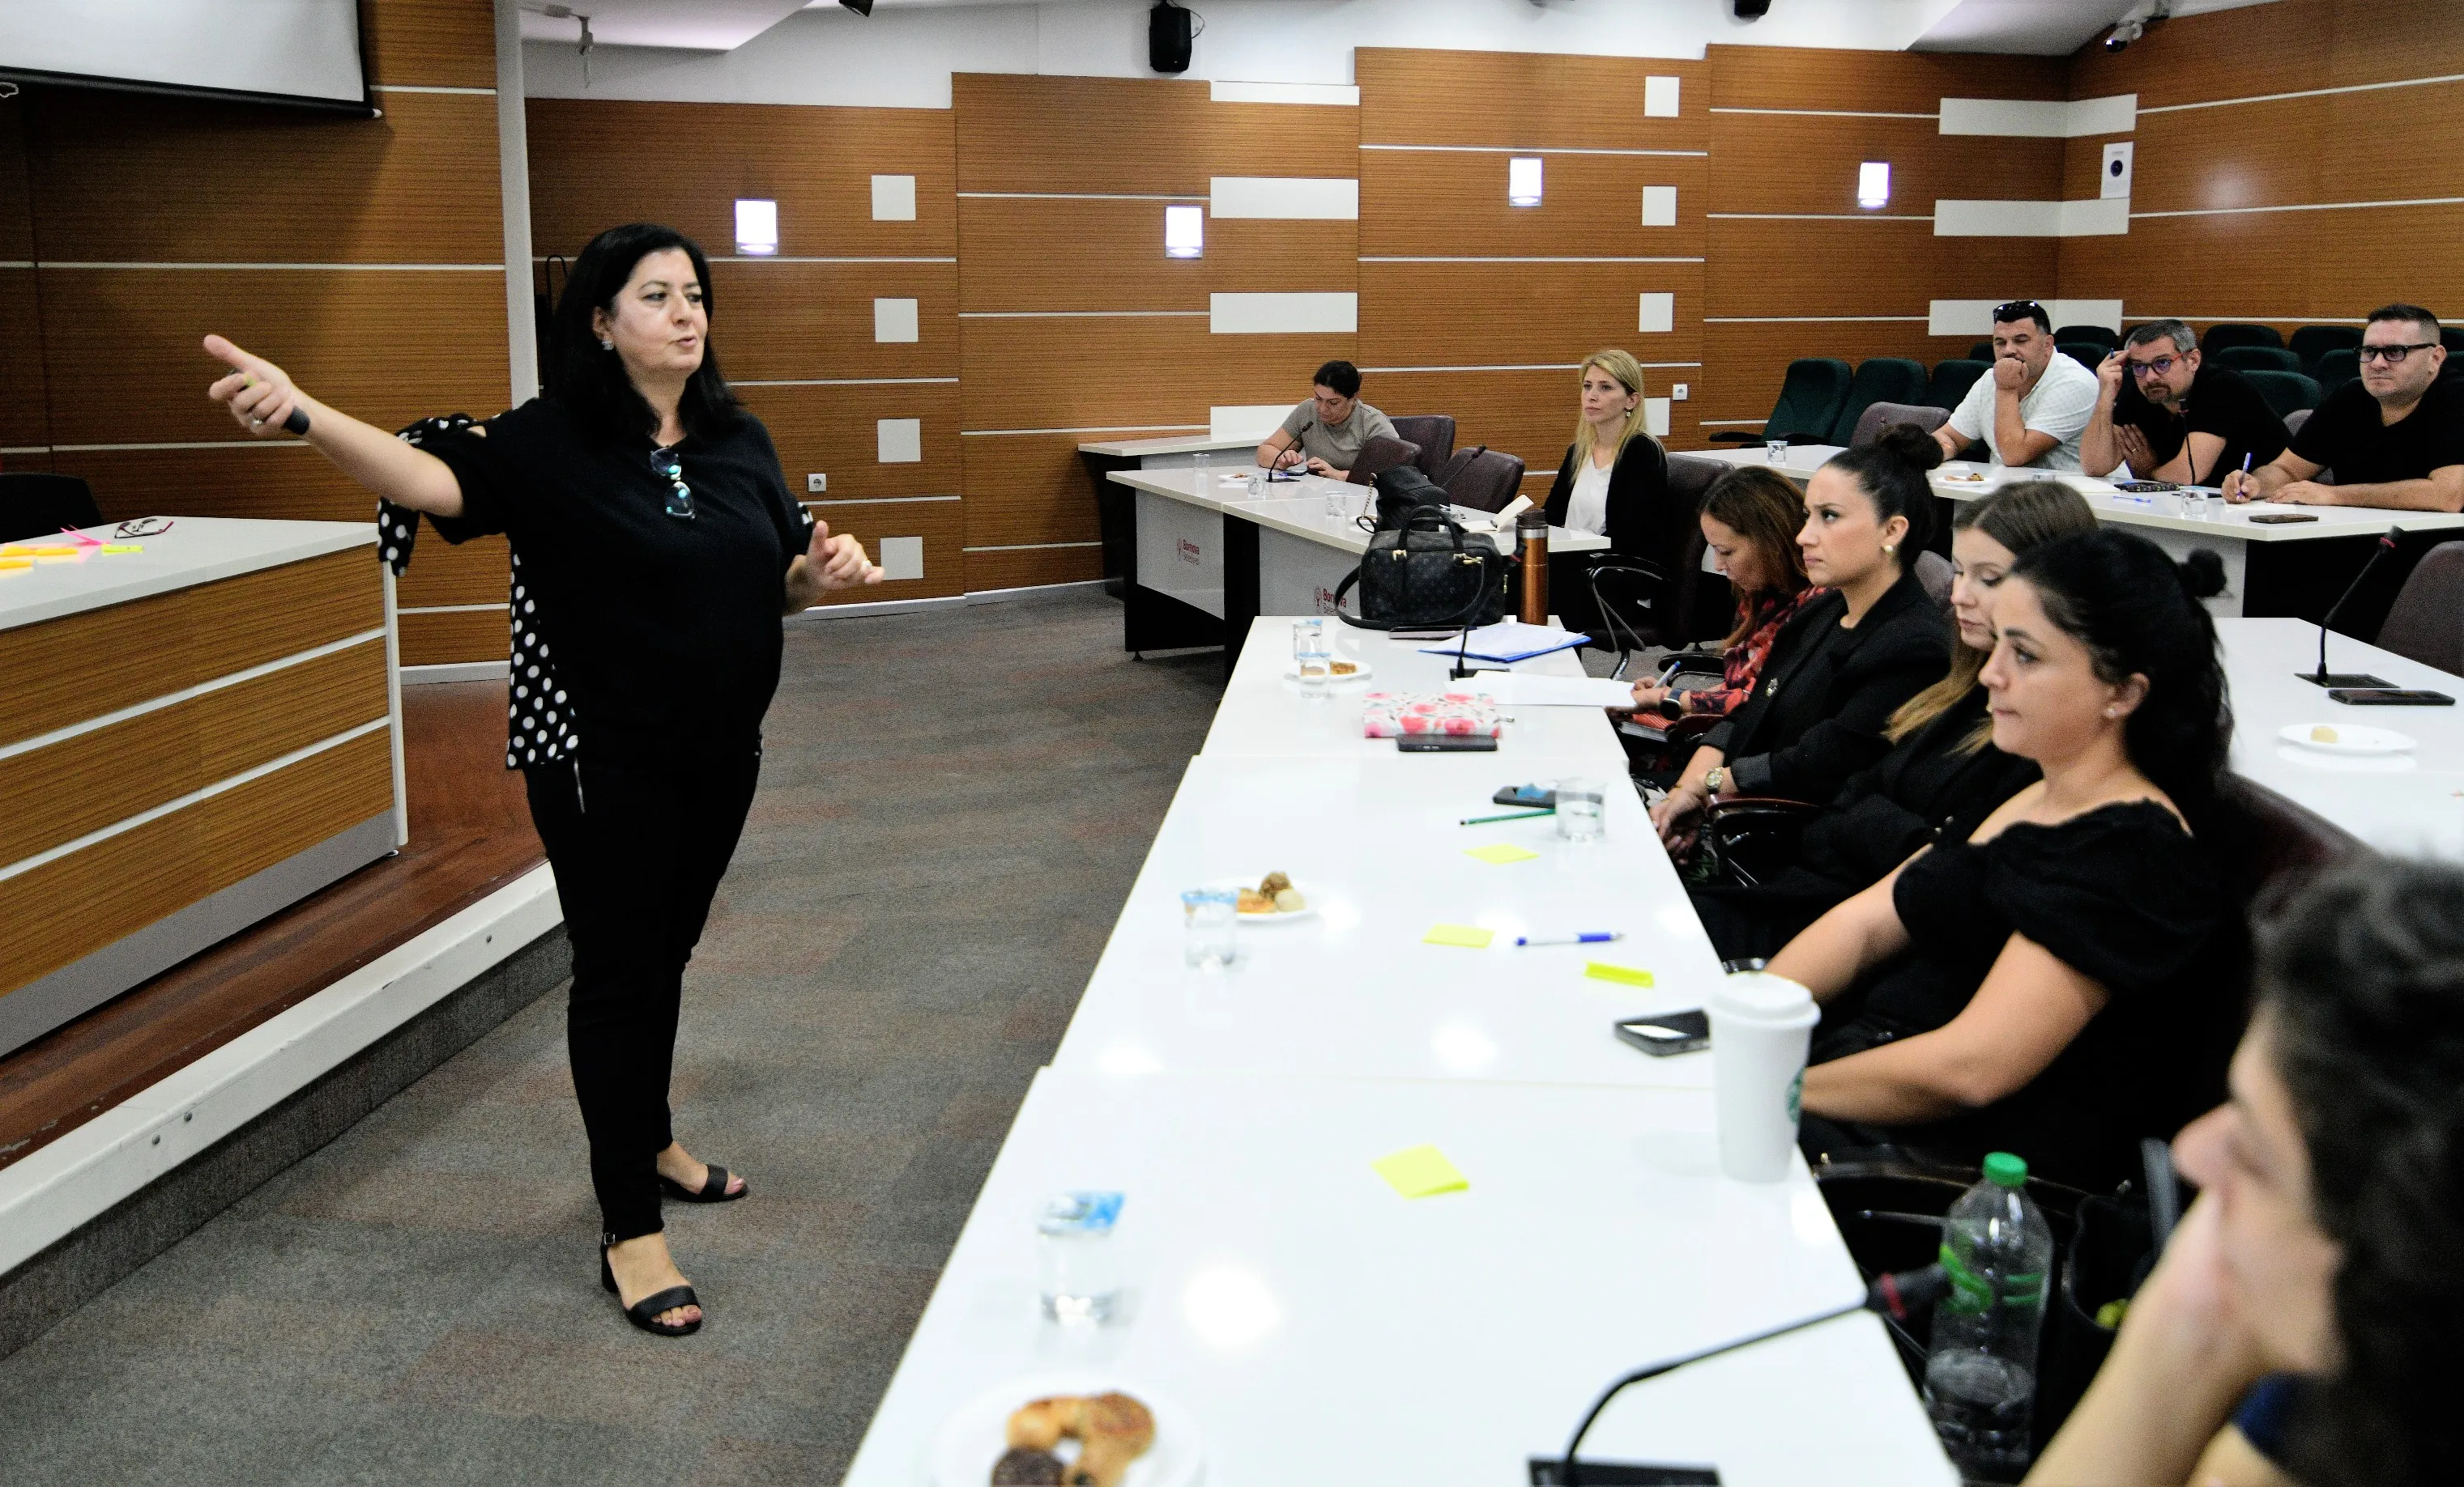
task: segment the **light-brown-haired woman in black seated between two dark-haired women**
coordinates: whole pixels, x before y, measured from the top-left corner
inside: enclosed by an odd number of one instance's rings
[[[2094,532],[2087,500],[2025,480],[1959,505],[1951,517],[1951,672],[1890,714],[1882,763],[1848,778],[1796,840],[1796,859],[1754,886],[1693,884],[1695,913],[1722,960],[1772,955],[1833,904],[1873,886],[1929,842],[1961,842],[2038,778],[2035,761],[1993,748],[1976,672],[1993,650],[1986,608],[2020,554]]]

